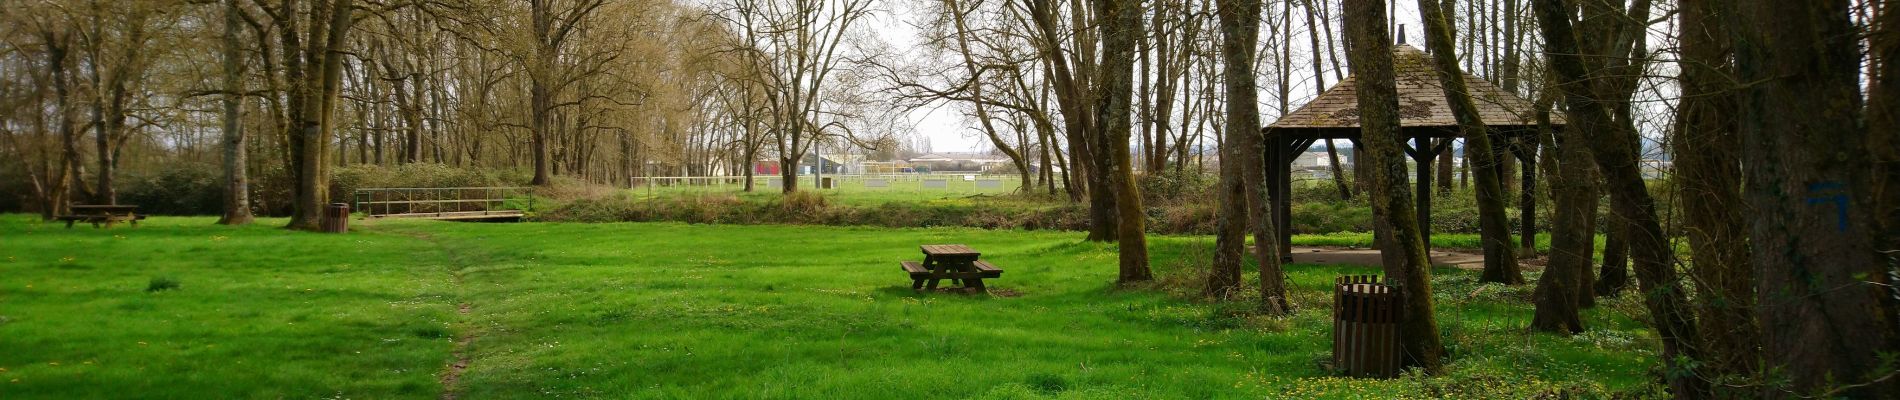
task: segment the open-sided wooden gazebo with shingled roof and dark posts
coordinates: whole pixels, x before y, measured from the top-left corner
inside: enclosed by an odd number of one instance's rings
[[[1434,138],[1459,138],[1457,119],[1452,118],[1452,108],[1446,106],[1444,87],[1438,83],[1438,68],[1431,63],[1431,55],[1419,51],[1417,47],[1398,44],[1393,45],[1393,72],[1398,83],[1398,125],[1400,135],[1412,138],[1406,144],[1406,155],[1417,173],[1417,214],[1419,226],[1425,227],[1425,241],[1431,246],[1431,195],[1433,195],[1433,167],[1431,161],[1444,154],[1452,140]],[[1279,121],[1264,127],[1262,133],[1267,136],[1265,169],[1267,169],[1267,193],[1273,195],[1273,205],[1279,212],[1273,212],[1275,226],[1281,235],[1282,258],[1290,254],[1292,246],[1292,227],[1288,214],[1292,212],[1292,161],[1313,146],[1313,142],[1326,138],[1351,140],[1353,146],[1360,146],[1358,131],[1358,93],[1353,87],[1355,76],[1347,76],[1343,82],[1334,83],[1330,89],[1320,93],[1317,99],[1300,106],[1292,114],[1282,116]],[[1522,169],[1520,190],[1535,188],[1535,165],[1533,157],[1535,146],[1510,146],[1518,138],[1533,138],[1537,133],[1537,110],[1530,100],[1516,97],[1505,89],[1499,89],[1492,82],[1480,80],[1465,72],[1465,83],[1471,89],[1471,99],[1478,106],[1478,116],[1484,123],[1495,131],[1499,136],[1509,140],[1493,140],[1497,154],[1512,154],[1526,165]],[[1550,116],[1552,127],[1562,127],[1564,119],[1560,116]],[[1531,140],[1535,142],[1535,140]],[[1358,163],[1358,159],[1353,159]],[[1471,165],[1467,165],[1471,167]],[[1530,214],[1533,210],[1520,210]],[[1526,226],[1530,218],[1522,218]],[[1526,227],[1524,231],[1535,231]]]

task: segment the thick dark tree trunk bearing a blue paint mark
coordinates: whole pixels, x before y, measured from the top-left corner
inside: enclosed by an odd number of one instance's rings
[[[1900,396],[1881,356],[1896,351],[1894,320],[1872,282],[1889,273],[1868,193],[1873,157],[1852,146],[1868,131],[1849,9],[1847,0],[1733,8],[1763,362],[1792,383],[1769,385],[1765,398]]]

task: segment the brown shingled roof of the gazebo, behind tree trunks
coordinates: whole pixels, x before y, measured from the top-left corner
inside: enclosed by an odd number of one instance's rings
[[[1412,45],[1393,45],[1393,72],[1398,78],[1400,127],[1457,127],[1452,108],[1446,106],[1444,85],[1438,85],[1438,68],[1433,66],[1431,55]],[[1357,129],[1358,93],[1355,83],[1357,76],[1347,76],[1267,129]],[[1471,89],[1471,100],[1478,106],[1478,118],[1484,119],[1484,125],[1537,125],[1537,110],[1530,100],[1469,72],[1465,72],[1465,85]],[[1564,125],[1564,118],[1554,114],[1550,123]]]

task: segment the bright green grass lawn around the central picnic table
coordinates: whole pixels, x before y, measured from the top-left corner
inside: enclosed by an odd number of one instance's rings
[[[0,216],[0,398],[1524,398],[1653,394],[1632,296],[1528,334],[1530,286],[1440,269],[1436,377],[1345,379],[1330,279],[1294,317],[1193,301],[1208,237],[1155,237],[1115,288],[1072,231],[357,222],[350,235]],[[918,294],[918,245],[965,243],[1009,296]],[[177,282],[171,290],[160,281]],[[466,345],[458,345],[466,341]]]

